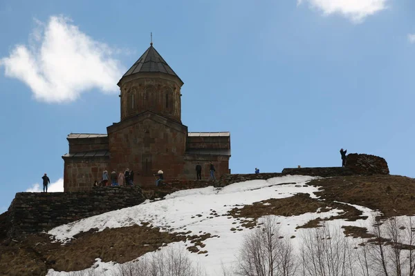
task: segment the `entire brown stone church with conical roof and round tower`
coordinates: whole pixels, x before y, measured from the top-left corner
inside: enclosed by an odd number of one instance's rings
[[[209,165],[216,178],[229,173],[230,132],[188,132],[181,121],[183,81],[150,43],[140,59],[118,81],[119,123],[106,134],[71,133],[64,159],[64,191],[91,190],[102,172],[135,172],[134,182],[154,186],[154,173],[165,179],[202,179]],[[138,175],[138,172],[140,175]]]

